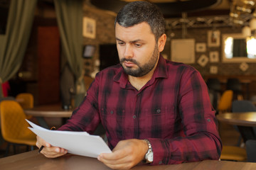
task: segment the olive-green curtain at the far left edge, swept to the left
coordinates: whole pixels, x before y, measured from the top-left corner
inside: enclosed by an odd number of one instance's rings
[[[0,97],[1,84],[18,72],[31,34],[36,0],[11,0],[6,34],[0,35]]]

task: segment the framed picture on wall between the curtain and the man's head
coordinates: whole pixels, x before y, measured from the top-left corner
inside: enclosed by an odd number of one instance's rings
[[[87,38],[95,39],[96,21],[92,18],[82,18],[82,35]]]

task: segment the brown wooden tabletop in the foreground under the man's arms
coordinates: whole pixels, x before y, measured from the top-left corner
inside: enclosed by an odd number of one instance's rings
[[[110,169],[102,162],[95,158],[82,157],[73,154],[66,154],[63,157],[48,159],[43,154],[38,154],[38,150],[16,154],[11,157],[0,159],[1,170],[37,170],[37,169],[54,169],[54,170],[107,170]],[[181,169],[210,169],[210,170],[255,170],[256,163],[249,162],[226,162],[206,160],[203,162],[191,162],[174,165],[137,165],[132,168],[134,170],[181,170]]]

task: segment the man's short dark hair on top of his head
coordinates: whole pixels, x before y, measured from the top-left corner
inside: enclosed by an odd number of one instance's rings
[[[123,27],[134,26],[146,22],[157,40],[164,34],[165,22],[160,9],[147,1],[133,1],[125,5],[118,13],[114,21]]]

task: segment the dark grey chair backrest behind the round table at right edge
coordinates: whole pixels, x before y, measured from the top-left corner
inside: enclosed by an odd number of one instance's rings
[[[256,111],[255,105],[251,101],[233,101],[232,102],[232,112],[254,112]]]

